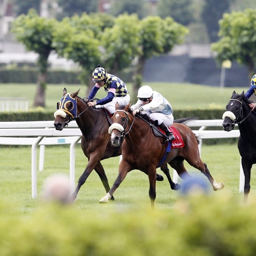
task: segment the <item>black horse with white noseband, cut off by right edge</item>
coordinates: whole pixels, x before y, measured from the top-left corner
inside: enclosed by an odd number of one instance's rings
[[[250,110],[250,103],[245,99],[244,92],[239,94],[233,91],[226,106],[227,111],[222,116],[224,131],[233,130],[235,124],[240,130],[238,149],[244,172],[244,202],[247,202],[250,192],[251,168],[256,163],[256,113]]]

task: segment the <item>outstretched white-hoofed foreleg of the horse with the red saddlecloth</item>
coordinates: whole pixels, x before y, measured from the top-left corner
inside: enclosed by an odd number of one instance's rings
[[[116,189],[119,187],[121,182],[125,179],[128,172],[130,172],[131,169],[123,159],[121,160],[119,164],[119,170],[118,170],[118,176],[116,177],[116,180],[113,183],[113,186],[109,190],[109,192],[99,201],[100,204],[107,204],[109,199],[113,196],[113,193],[116,191]]]

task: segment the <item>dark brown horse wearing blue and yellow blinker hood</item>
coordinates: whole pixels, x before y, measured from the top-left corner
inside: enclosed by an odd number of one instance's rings
[[[88,107],[87,102],[80,98],[78,93],[79,90],[75,93],[67,93],[66,88],[64,88],[63,98],[58,103],[58,110],[54,113],[54,126],[59,131],[70,121],[76,120],[82,132],[81,148],[88,158],[88,164],[71,196],[72,200],[77,197],[79,189],[93,169],[99,175],[106,192],[108,192],[110,190],[108,178],[100,161],[121,154],[121,147],[116,148],[111,145],[108,134],[110,123],[105,110]],[[161,169],[164,173],[169,172],[167,165],[161,166]],[[157,180],[163,180],[163,176],[157,175]],[[113,196],[111,200],[113,200]]]

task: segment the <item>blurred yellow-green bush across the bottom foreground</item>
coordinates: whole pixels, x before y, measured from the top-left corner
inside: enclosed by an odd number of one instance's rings
[[[1,256],[248,256],[256,251],[256,204],[180,198],[172,212],[41,204],[21,216],[0,203]],[[116,208],[114,208],[116,207]]]

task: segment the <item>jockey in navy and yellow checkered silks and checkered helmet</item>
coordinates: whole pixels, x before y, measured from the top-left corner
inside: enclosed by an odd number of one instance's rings
[[[108,93],[103,99],[98,99],[94,102],[88,102],[88,106],[96,106],[96,108],[106,108],[111,114],[115,112],[115,105],[128,105],[130,102],[130,95],[128,93],[125,83],[117,76],[108,74],[105,68],[98,65],[93,70],[93,86],[88,99],[93,99],[100,87]]]

